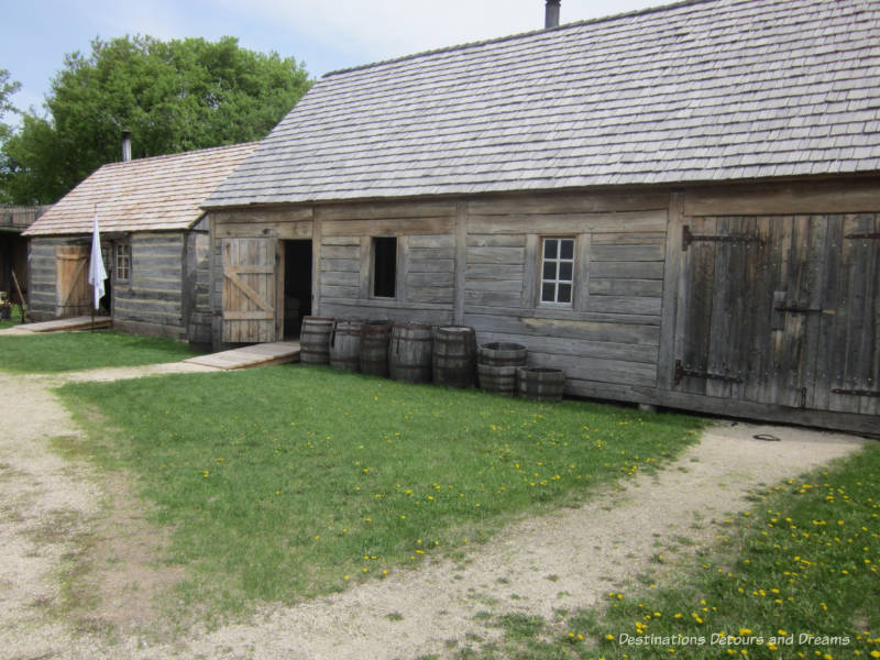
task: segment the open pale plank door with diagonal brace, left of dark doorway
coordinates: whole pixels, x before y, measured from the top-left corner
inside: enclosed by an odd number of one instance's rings
[[[276,341],[277,239],[223,239],[223,341]]]

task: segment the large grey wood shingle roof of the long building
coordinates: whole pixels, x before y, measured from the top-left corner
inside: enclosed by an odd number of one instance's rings
[[[702,0],[328,74],[206,207],[880,170],[880,2]]]

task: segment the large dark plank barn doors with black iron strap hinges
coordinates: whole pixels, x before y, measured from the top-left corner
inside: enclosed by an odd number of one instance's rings
[[[877,414],[878,229],[876,216],[692,220],[676,388]]]

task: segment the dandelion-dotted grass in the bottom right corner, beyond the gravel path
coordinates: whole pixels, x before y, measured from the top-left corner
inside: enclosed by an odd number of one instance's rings
[[[756,499],[691,569],[461,657],[880,658],[880,444]]]

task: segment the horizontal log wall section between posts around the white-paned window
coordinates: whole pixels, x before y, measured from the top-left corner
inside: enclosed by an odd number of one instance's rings
[[[479,342],[525,345],[529,364],[565,371],[568,394],[648,400],[636,388],[657,384],[669,200],[635,201],[469,205],[464,323]],[[539,301],[544,237],[575,239],[571,306]]]

